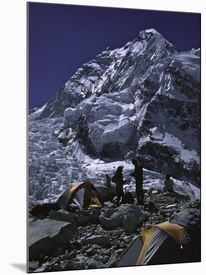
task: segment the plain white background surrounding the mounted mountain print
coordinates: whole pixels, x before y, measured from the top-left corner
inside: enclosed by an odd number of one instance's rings
[[[35,1],[35,0],[33,0]],[[41,1],[40,1],[41,2]],[[131,7],[143,9],[176,10],[202,12],[202,75],[204,74],[205,50],[205,12],[201,0],[45,0],[50,3],[86,4],[113,7]],[[171,22],[172,23],[172,22]],[[0,2],[0,272],[22,274],[26,263],[26,0],[9,0]],[[205,134],[205,81],[202,77],[202,136]],[[202,167],[205,164],[204,138],[202,137]],[[205,231],[204,187],[206,174],[202,168],[202,232]],[[205,237],[202,235],[202,248]],[[202,249],[203,250],[203,249]],[[202,263],[156,265],[98,269],[99,274],[177,274],[203,273],[205,253]],[[64,273],[58,274],[65,274]],[[72,271],[73,274],[90,275],[97,270]],[[52,272],[57,274],[57,272]]]

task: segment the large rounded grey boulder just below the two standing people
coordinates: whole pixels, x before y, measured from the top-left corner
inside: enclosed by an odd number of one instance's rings
[[[122,226],[125,216],[133,217],[136,225],[142,223],[147,218],[147,215],[140,210],[139,206],[121,204],[115,209],[106,208],[100,214],[99,219],[104,227],[112,229]]]

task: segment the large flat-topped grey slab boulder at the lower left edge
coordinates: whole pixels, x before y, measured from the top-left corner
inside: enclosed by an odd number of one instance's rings
[[[48,254],[68,243],[78,229],[72,223],[52,219],[29,218],[28,254],[29,260],[39,259],[40,254]]]

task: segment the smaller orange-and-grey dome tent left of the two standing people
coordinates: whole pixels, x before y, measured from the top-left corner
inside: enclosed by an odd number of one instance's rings
[[[96,187],[89,181],[71,184],[56,201],[61,208],[101,208],[101,198]]]

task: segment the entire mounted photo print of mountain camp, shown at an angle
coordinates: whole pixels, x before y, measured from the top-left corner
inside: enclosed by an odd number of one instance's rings
[[[29,273],[201,261],[200,16],[27,3]]]

